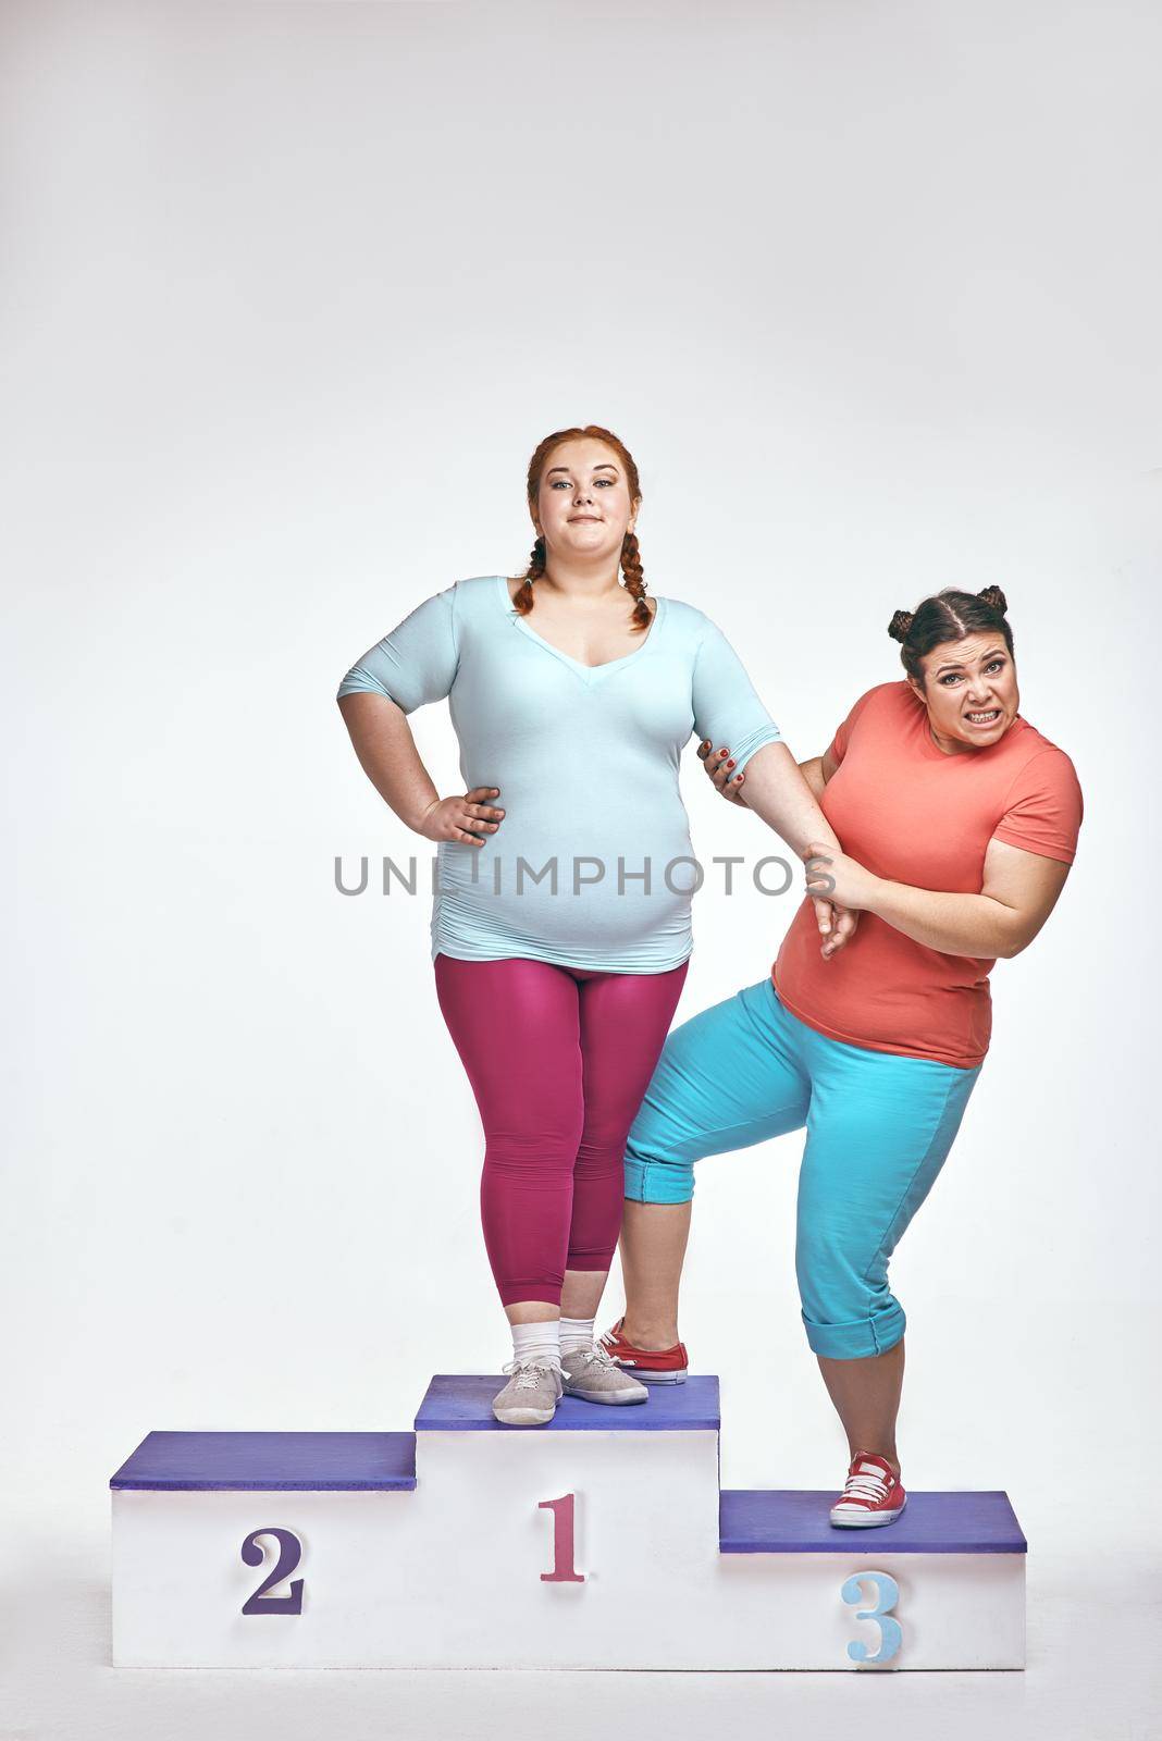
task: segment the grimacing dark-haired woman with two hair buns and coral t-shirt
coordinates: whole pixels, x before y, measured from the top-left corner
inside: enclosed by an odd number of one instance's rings
[[[844,841],[807,846],[807,900],[769,977],[675,1029],[626,1144],[626,1311],[602,1339],[647,1382],[685,1375],[678,1278],[694,1161],[807,1130],[795,1269],[807,1342],[847,1433],[830,1516],[905,1506],[896,1414],[905,1313],[887,1260],[936,1182],[981,1072],[988,975],[1033,942],[1082,822],[1070,757],[1018,712],[998,587],[896,611],[906,677],[854,703],[804,778]],[[729,740],[705,743],[741,803]],[[858,914],[842,956],[816,949],[811,897]]]

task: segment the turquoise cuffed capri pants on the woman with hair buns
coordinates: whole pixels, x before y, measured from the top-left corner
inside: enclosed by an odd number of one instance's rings
[[[633,1203],[687,1203],[694,1161],[807,1128],[795,1274],[807,1342],[831,1360],[905,1334],[887,1260],[932,1189],[983,1065],[828,1039],[771,978],[675,1027],[626,1144]]]

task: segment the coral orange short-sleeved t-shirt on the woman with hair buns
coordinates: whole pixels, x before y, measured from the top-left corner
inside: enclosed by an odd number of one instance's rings
[[[997,743],[946,756],[912,686],[861,695],[831,742],[838,770],[819,808],[875,876],[979,895],[992,839],[1073,862],[1082,789],[1073,763],[1018,714]],[[873,912],[830,961],[811,898],[772,968],[791,1015],[854,1046],[971,1069],[988,1052],[993,961],[913,942]]]

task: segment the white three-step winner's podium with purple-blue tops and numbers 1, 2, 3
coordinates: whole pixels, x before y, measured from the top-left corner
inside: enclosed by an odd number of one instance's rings
[[[1002,1492],[720,1490],[718,1381],[503,1428],[437,1377],[414,1433],[150,1433],[111,1478],[122,1668],[1023,1668]]]

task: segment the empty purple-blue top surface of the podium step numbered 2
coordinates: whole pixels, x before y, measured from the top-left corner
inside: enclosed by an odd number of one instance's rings
[[[414,1433],[148,1433],[110,1487],[150,1492],[411,1492]]]

